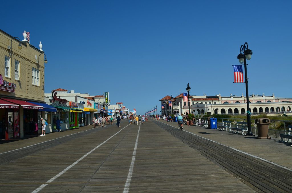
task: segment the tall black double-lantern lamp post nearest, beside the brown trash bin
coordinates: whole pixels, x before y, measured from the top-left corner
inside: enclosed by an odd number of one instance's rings
[[[243,52],[243,53],[242,53]],[[249,111],[249,99],[248,99],[248,78],[247,78],[247,68],[246,68],[246,59],[250,60],[251,55],[253,52],[248,49],[247,42],[244,43],[244,45],[240,46],[240,54],[237,56],[237,59],[239,60],[239,63],[244,63],[244,72],[245,72],[245,89],[246,89],[246,116],[247,116],[247,136],[252,136],[253,133],[251,132],[251,112]]]

